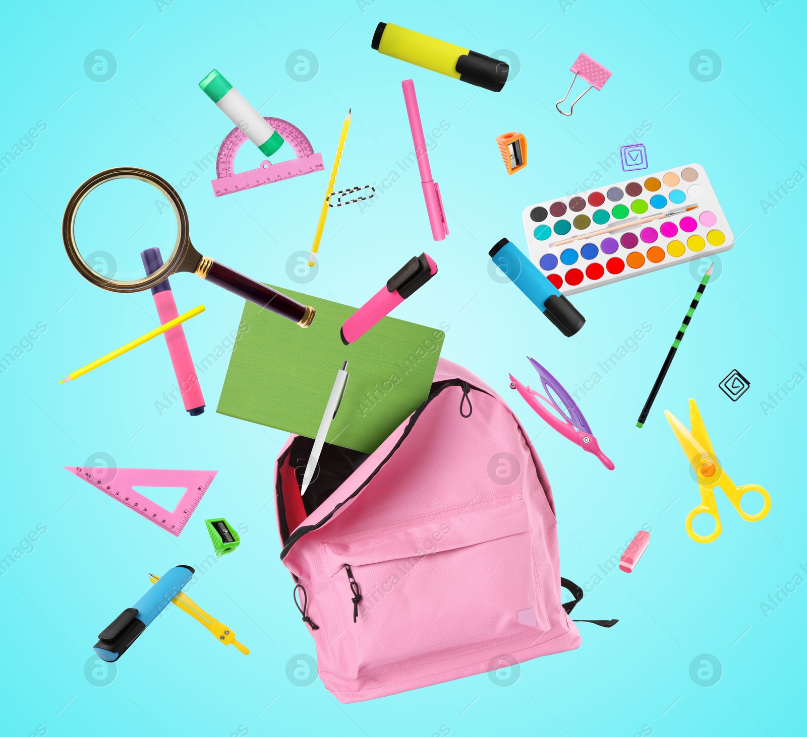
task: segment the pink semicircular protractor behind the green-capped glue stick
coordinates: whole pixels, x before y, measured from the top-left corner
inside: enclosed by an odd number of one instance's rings
[[[219,178],[214,179],[211,184],[216,197],[272,184],[283,179],[291,179],[291,177],[300,177],[303,174],[323,171],[322,156],[314,153],[314,147],[303,131],[279,118],[266,118],[266,121],[282,135],[291,148],[294,148],[297,157],[288,161],[279,161],[277,164],[264,160],[261,161],[258,169],[236,174],[236,153],[247,137],[240,128],[233,128],[227,138],[222,141],[219,156],[215,160],[215,173]]]

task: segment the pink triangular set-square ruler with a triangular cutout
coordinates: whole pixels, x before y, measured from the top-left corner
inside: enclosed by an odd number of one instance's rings
[[[179,537],[190,515],[210,488],[215,474],[219,473],[165,468],[64,468],[175,537]],[[185,489],[185,493],[174,510],[169,511],[136,492],[132,486],[179,486]]]

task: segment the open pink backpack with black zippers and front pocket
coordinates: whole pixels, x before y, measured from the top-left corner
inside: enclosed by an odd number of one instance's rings
[[[549,481],[479,377],[441,359],[418,410],[370,456],[326,445],[300,498],[311,448],[292,435],[275,467],[281,559],[339,701],[579,647]]]

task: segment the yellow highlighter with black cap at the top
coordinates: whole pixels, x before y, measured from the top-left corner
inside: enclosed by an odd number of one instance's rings
[[[445,74],[470,85],[500,92],[510,68],[504,61],[493,59],[468,48],[448,44],[393,23],[378,23],[372,47],[386,56],[408,61],[424,69]]]

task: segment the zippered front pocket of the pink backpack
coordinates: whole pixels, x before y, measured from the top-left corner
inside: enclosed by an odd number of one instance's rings
[[[520,493],[328,539],[322,552],[339,614],[328,642],[356,676],[549,628]]]

